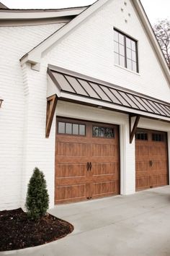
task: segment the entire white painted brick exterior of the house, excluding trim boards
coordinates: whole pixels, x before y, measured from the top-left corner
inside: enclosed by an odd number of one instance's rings
[[[55,174],[55,119],[50,137],[45,139],[47,66],[56,66],[81,72],[101,80],[122,85],[141,93],[169,101],[169,87],[145,33],[138,22],[130,1],[109,1],[89,17],[81,27],[76,27],[56,43],[56,47],[43,57],[40,72],[30,69],[30,64],[19,66],[19,58],[30,51],[40,40],[53,33],[58,25],[35,27],[2,27],[1,90],[4,98],[0,109],[0,202],[2,208],[24,205],[27,182],[32,169],[38,166],[45,173],[54,202]],[[122,13],[120,8],[125,11]],[[131,17],[128,17],[130,12]],[[125,23],[128,17],[128,23]],[[139,40],[140,74],[128,72],[114,65],[113,25]],[[22,35],[22,40],[21,40]],[[2,39],[3,38],[3,39]],[[16,47],[17,46],[17,47]],[[9,51],[6,51],[6,48]],[[161,89],[160,89],[161,85]],[[161,95],[160,95],[161,90]],[[129,144],[128,116],[71,103],[58,103],[56,114],[93,121],[120,124],[121,130],[121,193],[135,191],[135,146]],[[145,123],[149,126],[150,120]],[[161,123],[154,121],[161,129]],[[166,130],[169,129],[169,125]],[[23,132],[24,131],[24,132]],[[24,141],[24,143],[22,143]],[[22,157],[23,156],[23,157]],[[7,167],[7,168],[6,168]]]

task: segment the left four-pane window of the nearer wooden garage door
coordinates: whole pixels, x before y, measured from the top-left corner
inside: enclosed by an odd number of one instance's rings
[[[86,135],[86,125],[58,121],[58,133],[66,134],[66,135],[85,136]]]

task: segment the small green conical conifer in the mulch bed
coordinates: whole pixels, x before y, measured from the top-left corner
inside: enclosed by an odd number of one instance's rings
[[[32,220],[45,216],[49,205],[49,195],[45,176],[39,168],[35,167],[27,188],[25,206],[27,215]]]

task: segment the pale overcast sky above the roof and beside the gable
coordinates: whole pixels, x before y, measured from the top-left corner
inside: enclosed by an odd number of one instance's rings
[[[93,4],[95,0],[0,0],[13,9],[57,9]],[[170,19],[170,0],[140,0],[151,23]]]

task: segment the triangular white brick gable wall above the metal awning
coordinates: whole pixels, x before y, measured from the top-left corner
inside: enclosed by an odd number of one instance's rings
[[[127,6],[122,0],[108,1],[59,40],[45,61],[169,101],[170,88],[156,54],[130,0],[126,2]],[[139,74],[115,66],[113,27],[138,40]]]

